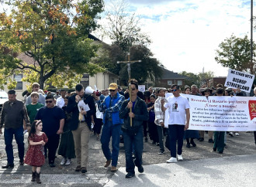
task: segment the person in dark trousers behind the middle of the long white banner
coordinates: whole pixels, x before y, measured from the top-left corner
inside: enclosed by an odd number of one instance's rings
[[[216,90],[216,96],[223,96],[224,90],[222,87],[218,87]],[[225,147],[224,143],[225,131],[214,131],[214,145],[213,151],[218,151],[218,153],[223,154]]]

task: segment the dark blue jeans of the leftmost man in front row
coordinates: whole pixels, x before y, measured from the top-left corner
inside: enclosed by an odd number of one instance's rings
[[[23,134],[23,127],[20,128],[9,128],[5,129],[5,151],[7,155],[7,162],[9,164],[13,164],[14,157],[13,157],[13,148],[12,148],[12,139],[13,134],[16,139],[16,143],[18,145],[19,151],[19,161],[23,161],[24,159],[24,134]]]

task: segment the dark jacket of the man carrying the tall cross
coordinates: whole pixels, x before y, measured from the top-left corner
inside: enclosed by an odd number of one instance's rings
[[[148,120],[148,111],[147,105],[145,104],[144,100],[141,100],[140,97],[137,97],[133,108],[133,122],[132,127],[130,127],[130,109],[127,107],[127,104],[130,100],[123,101],[122,107],[119,112],[119,117],[124,119],[124,124],[122,125],[122,130],[126,131],[130,134],[136,134],[139,128],[143,125],[143,121]]]

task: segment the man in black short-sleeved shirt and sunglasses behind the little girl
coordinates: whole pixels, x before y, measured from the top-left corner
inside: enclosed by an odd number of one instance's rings
[[[44,145],[45,157],[47,157],[50,167],[55,167],[55,155],[60,142],[60,134],[63,132],[64,127],[64,110],[55,106],[54,96],[47,95],[45,97],[47,104],[46,107],[41,107],[38,110],[35,120],[43,122],[43,132],[47,134],[48,142]]]

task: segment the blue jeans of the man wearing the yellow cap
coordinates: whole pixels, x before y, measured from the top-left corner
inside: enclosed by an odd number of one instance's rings
[[[120,143],[120,124],[112,124],[112,121],[106,121],[102,128],[102,151],[107,160],[112,159],[112,166],[117,165]],[[110,137],[112,137],[112,154],[109,148]]]

